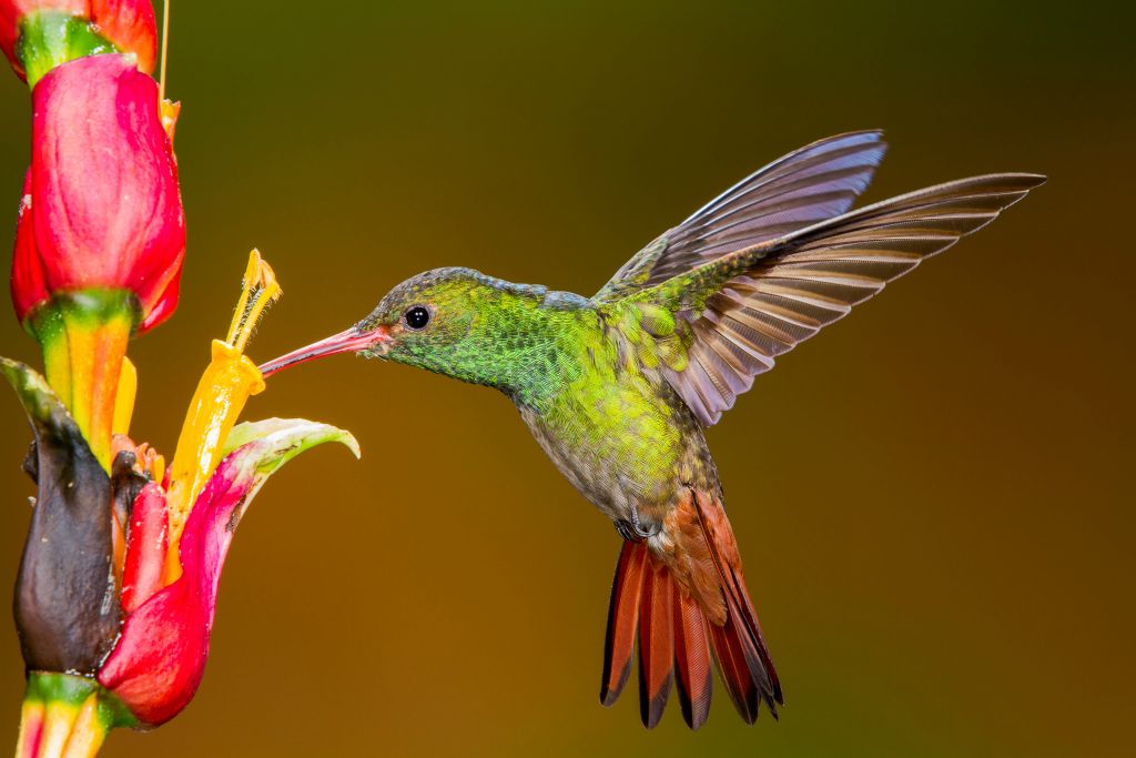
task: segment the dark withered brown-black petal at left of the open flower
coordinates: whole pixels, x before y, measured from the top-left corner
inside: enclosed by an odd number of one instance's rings
[[[42,376],[0,358],[35,433],[37,492],[16,581],[27,667],[93,674],[120,611],[111,564],[110,480]]]

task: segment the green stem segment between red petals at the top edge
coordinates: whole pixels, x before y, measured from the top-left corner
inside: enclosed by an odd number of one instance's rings
[[[41,10],[28,14],[19,23],[16,55],[24,64],[30,88],[56,66],[100,52],[118,52],[118,49],[82,16]]]

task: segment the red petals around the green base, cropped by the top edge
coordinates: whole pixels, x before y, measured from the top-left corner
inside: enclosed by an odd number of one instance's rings
[[[25,60],[18,43],[39,14],[74,19],[69,25],[77,28],[68,28],[65,36],[89,38],[78,47],[90,47],[90,38],[98,38],[114,45],[114,50],[133,52],[143,72],[153,70],[158,26],[149,0],[0,0],[0,48],[20,78]]]

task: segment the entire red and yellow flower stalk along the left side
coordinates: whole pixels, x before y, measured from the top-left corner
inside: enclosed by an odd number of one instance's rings
[[[174,456],[130,436],[130,339],[177,306],[185,220],[178,107],[150,76],[140,0],[0,0],[0,47],[32,89],[12,258],[41,375],[0,358],[35,436],[15,616],[28,672],[17,755],[92,756],[114,726],[175,716],[203,674],[220,570],[249,501],[299,452],[354,439],[303,419],[237,424],[264,378],[244,355],[279,295],[252,252]]]

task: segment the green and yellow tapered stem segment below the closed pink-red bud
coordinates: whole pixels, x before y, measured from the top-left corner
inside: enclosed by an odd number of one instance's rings
[[[56,294],[24,324],[40,343],[48,383],[107,470],[118,380],[136,317],[130,290],[83,290]]]

